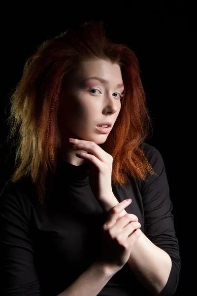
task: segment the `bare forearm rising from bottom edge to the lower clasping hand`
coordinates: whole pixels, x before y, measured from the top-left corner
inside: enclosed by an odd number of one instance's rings
[[[57,296],[97,296],[113,275],[104,265],[95,262]]]

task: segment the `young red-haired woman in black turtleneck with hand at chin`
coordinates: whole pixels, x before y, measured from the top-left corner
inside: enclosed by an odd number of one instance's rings
[[[103,22],[26,62],[8,118],[17,146],[0,194],[1,295],[174,295],[179,245],[162,155],[144,142],[139,72]]]

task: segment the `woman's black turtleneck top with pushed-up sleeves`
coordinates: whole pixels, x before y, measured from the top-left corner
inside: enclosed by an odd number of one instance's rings
[[[127,213],[134,214],[142,232],[172,260],[168,281],[159,296],[176,291],[180,254],[175,234],[164,161],[153,146],[142,143],[158,176],[123,186],[113,185],[119,202],[131,198]],[[99,254],[103,210],[89,185],[89,163],[75,166],[59,161],[55,189],[44,205],[37,201],[30,178],[10,180],[0,194],[0,295],[57,296]],[[126,263],[99,292],[99,296],[152,295]]]

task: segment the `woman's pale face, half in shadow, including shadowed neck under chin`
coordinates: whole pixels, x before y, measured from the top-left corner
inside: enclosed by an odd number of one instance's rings
[[[81,165],[87,160],[75,155],[68,138],[103,144],[120,112],[124,86],[119,65],[102,59],[82,61],[68,76],[63,82],[58,114],[62,137],[60,157]],[[111,122],[111,129],[101,133],[97,125],[106,121]]]

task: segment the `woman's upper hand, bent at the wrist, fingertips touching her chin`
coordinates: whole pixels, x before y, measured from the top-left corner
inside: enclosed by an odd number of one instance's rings
[[[80,152],[76,156],[90,162],[89,182],[96,199],[103,202],[107,197],[111,197],[113,195],[111,186],[113,157],[93,141],[75,139],[70,143],[77,145],[75,149],[91,153]]]

